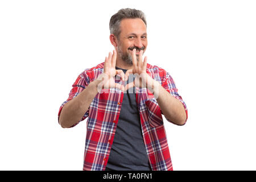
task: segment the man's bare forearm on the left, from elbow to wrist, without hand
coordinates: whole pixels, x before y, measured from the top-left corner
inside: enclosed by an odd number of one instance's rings
[[[97,84],[98,80],[90,82],[77,97],[64,105],[59,118],[61,127],[71,127],[81,120],[98,93]]]

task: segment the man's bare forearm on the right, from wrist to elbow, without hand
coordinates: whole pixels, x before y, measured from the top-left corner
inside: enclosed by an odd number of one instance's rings
[[[187,114],[183,104],[172,96],[158,81],[155,81],[154,92],[158,91],[158,98],[156,101],[164,116],[176,125],[184,125],[187,119]],[[158,89],[158,90],[156,90]]]

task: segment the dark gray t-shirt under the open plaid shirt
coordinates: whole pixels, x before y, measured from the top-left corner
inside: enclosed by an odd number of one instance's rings
[[[115,67],[115,69],[121,69]],[[122,69],[125,73],[127,69]],[[129,81],[133,81],[133,75]],[[143,142],[141,119],[135,97],[135,87],[123,94],[117,130],[110,151],[106,171],[133,170],[151,171],[146,148]]]

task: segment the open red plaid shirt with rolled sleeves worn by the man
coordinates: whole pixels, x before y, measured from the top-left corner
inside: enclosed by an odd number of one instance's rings
[[[58,119],[63,106],[104,72],[104,63],[96,67],[85,69],[72,85],[68,100],[60,106]],[[160,82],[172,96],[177,98],[185,108],[187,107],[177,89],[172,77],[164,69],[147,64],[147,73]],[[115,82],[120,80],[115,78]],[[112,147],[118,118],[122,107],[123,92],[117,88],[103,89],[97,93],[88,110],[80,121],[88,117],[86,125],[86,143],[84,153],[84,170],[105,170]],[[172,170],[171,156],[164,130],[162,111],[154,95],[146,88],[136,88],[136,101],[141,117],[141,130],[148,159],[152,170]],[[166,118],[167,119],[167,118]],[[79,121],[79,122],[80,122]],[[167,121],[171,122],[169,119]],[[187,119],[186,119],[187,121]],[[77,124],[76,124],[77,125]],[[75,126],[75,125],[73,125]]]

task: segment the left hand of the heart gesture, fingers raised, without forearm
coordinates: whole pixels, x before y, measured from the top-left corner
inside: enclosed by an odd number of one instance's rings
[[[125,87],[121,84],[115,82],[115,75],[119,75],[122,81],[125,81],[125,73],[121,69],[115,69],[115,63],[117,60],[117,52],[114,50],[113,55],[109,52],[109,57],[105,58],[104,63],[104,73],[101,73],[97,77],[96,86],[97,90],[100,93],[101,89],[110,89],[118,88],[122,91],[125,90]]]

